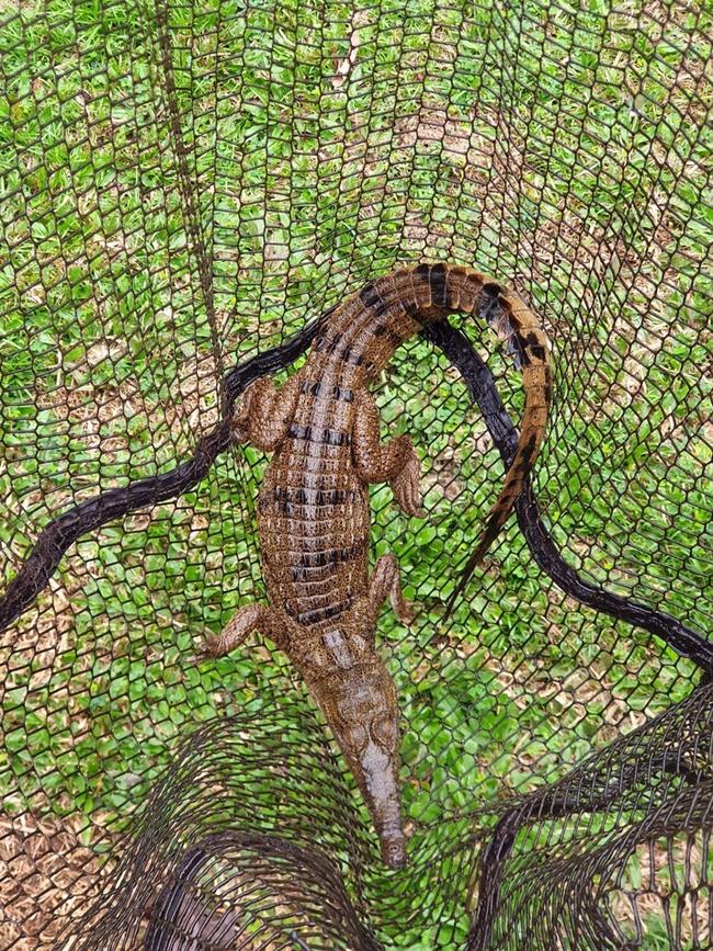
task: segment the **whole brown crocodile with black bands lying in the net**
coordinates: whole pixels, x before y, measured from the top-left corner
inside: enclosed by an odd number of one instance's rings
[[[497,535],[544,434],[546,338],[519,298],[482,274],[444,264],[396,271],[335,308],[306,363],[280,390],[259,380],[236,408],[235,438],[274,453],[258,497],[269,607],[239,609],[205,648],[220,656],[259,630],[287,654],[343,751],[392,868],[406,862],[398,706],[374,634],[386,596],[403,622],[412,610],[394,555],[369,575],[367,485],[388,482],[401,509],[419,516],[419,460],[408,435],[381,442],[367,387],[405,340],[453,312],[485,317],[523,373],[518,450],[475,554]]]

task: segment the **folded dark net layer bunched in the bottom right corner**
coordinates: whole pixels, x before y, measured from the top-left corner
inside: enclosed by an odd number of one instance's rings
[[[498,816],[468,951],[710,948],[710,687]]]

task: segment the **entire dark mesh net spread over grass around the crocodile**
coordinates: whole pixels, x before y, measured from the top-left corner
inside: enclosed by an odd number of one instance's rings
[[[695,2],[0,2],[0,947],[710,947],[712,26]],[[190,657],[264,599],[235,398],[421,260],[517,288],[556,385],[448,621],[521,381],[462,321],[376,388],[427,510],[371,488],[372,561],[420,609],[377,631],[389,872],[286,658]]]

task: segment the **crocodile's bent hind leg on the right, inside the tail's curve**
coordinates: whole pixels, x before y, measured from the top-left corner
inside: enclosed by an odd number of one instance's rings
[[[388,482],[396,501],[409,516],[422,516],[420,461],[408,435],[381,442],[378,409],[362,392],[354,409],[352,455],[358,476],[365,483]]]

